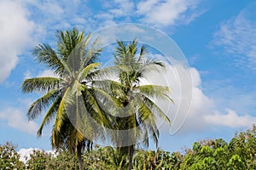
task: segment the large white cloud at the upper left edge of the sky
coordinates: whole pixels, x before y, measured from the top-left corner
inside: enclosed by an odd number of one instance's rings
[[[0,83],[17,65],[22,49],[32,42],[30,34],[35,25],[27,16],[26,8],[20,3],[0,2]]]

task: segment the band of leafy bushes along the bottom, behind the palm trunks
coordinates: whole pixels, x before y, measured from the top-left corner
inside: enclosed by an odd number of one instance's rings
[[[58,154],[49,154],[34,150],[26,162],[20,156],[15,145],[0,145],[0,169],[78,169],[76,155],[67,150]],[[119,156],[112,147],[98,147],[84,151],[85,169],[127,169],[128,158]],[[236,133],[229,143],[224,139],[210,139],[195,142],[191,148],[181,152],[165,150],[136,150],[133,157],[134,170],[148,169],[207,169],[207,170],[253,170],[256,169],[256,126],[246,132]]]

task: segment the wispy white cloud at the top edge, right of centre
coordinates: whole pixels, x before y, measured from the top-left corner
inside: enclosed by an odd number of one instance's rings
[[[137,3],[137,14],[143,15],[142,20],[154,26],[189,24],[202,13],[195,10],[198,3],[198,0],[146,0]]]

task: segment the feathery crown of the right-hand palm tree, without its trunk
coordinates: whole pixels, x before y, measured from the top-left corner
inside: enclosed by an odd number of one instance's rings
[[[156,117],[160,116],[166,122],[171,122],[160,107],[154,104],[154,99],[167,99],[172,102],[168,96],[170,89],[152,84],[143,85],[141,82],[147,78],[148,73],[160,71],[165,65],[156,59],[145,59],[147,54],[145,46],[140,48],[139,54],[137,51],[136,40],[128,45],[125,45],[125,42],[118,42],[114,54],[120,82],[119,87],[122,90],[117,93],[116,89],[113,88],[115,89],[113,95],[119,99],[123,107],[122,111],[125,111],[126,114],[124,117],[117,117],[118,122],[121,123],[116,128],[122,130],[135,128],[137,135],[134,138],[136,140],[137,137],[141,138],[146,145],[148,145],[148,134],[152,134],[152,138],[157,144],[159,130],[156,126]]]

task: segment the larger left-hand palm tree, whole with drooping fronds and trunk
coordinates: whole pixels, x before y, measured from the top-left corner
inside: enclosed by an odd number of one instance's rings
[[[56,77],[28,78],[21,85],[24,93],[44,93],[27,111],[28,120],[45,112],[38,136],[54,119],[51,145],[57,150],[67,148],[72,153],[77,150],[79,169],[83,169],[81,155],[85,144],[90,145],[93,139],[103,134],[99,133],[102,129],[94,128],[96,126],[91,120],[108,123],[95,96],[96,91],[102,91],[92,83],[101,73],[96,60],[102,49],[95,47],[96,42],[90,46],[90,34],[84,36],[84,31],[79,32],[76,28],[57,31],[56,50],[48,44],[39,44],[32,51],[35,60],[52,69]]]

